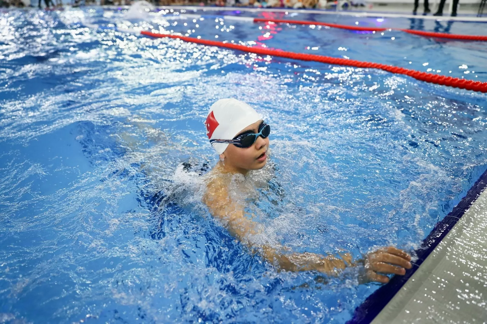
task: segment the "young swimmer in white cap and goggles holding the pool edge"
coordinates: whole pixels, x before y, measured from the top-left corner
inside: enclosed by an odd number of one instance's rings
[[[349,253],[324,256],[316,253],[292,252],[285,246],[270,244],[262,225],[252,221],[245,212],[245,198],[252,197],[253,185],[246,185],[254,170],[267,164],[270,126],[246,103],[236,99],[220,99],[209,110],[205,122],[210,144],[220,155],[220,161],[207,174],[206,193],[203,201],[209,212],[220,220],[230,234],[250,250],[257,250],[262,257],[280,270],[315,270],[338,274],[346,267],[364,265],[361,282],[387,283],[383,274],[405,274],[411,268],[411,256],[394,247],[371,252],[364,260],[352,261]],[[260,183],[266,182],[261,179]]]

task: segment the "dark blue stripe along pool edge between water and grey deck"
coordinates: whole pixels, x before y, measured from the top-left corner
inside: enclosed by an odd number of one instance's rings
[[[487,187],[487,170],[480,176],[479,180],[468,190],[467,195],[460,200],[450,214],[438,222],[428,237],[423,241],[421,247],[416,250],[418,260],[412,269],[407,270],[404,276],[394,276],[388,284],[381,286],[374,293],[356,308],[354,317],[346,324],[369,324],[375,316],[389,303],[394,295],[408,281],[412,274],[419,268],[423,261],[436,248],[458,220],[465,214],[465,211],[479,197]]]

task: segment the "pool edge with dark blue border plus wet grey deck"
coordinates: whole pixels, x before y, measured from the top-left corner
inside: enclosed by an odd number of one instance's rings
[[[375,290],[347,324],[486,324],[486,188],[487,170],[415,251],[412,269]]]

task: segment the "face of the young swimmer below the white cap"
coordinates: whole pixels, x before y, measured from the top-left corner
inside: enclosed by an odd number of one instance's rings
[[[238,134],[259,132],[259,126],[262,120],[249,125],[242,129]],[[237,147],[229,144],[225,152],[220,154],[220,158],[224,160],[225,167],[233,168],[240,172],[248,170],[259,170],[267,163],[267,149],[269,148],[269,137],[262,138],[259,136],[254,144],[250,147]]]

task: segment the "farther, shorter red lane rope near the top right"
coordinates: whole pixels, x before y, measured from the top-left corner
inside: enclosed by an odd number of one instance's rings
[[[487,41],[487,36],[475,36],[475,35],[460,35],[460,34],[447,34],[447,33],[436,33],[436,32],[424,32],[420,30],[413,29],[400,29],[400,28],[380,28],[380,27],[359,27],[350,25],[340,25],[331,24],[327,22],[320,21],[309,21],[309,20],[288,20],[288,19],[269,19],[269,18],[254,18],[254,22],[275,22],[275,23],[290,23],[296,25],[317,25],[317,26],[328,26],[333,28],[356,30],[362,32],[383,32],[387,29],[399,30],[409,34],[425,36],[425,37],[436,37],[436,38],[449,38],[449,39],[461,39],[461,40],[478,40]]]

